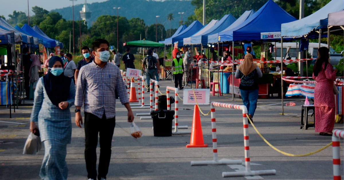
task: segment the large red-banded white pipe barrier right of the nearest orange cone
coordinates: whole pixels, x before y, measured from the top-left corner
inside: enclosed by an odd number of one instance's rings
[[[244,105],[233,105],[227,103],[212,102],[211,108],[211,120],[212,120],[212,137],[213,137],[213,153],[214,158],[212,161],[191,161],[192,165],[219,165],[219,164],[238,164],[237,160],[218,160],[217,159],[217,137],[216,137],[216,117],[215,107],[224,107],[231,109],[240,109],[243,111],[243,124],[244,124],[244,151],[245,151],[245,171],[236,172],[222,172],[222,177],[229,176],[255,176],[255,175],[267,175],[276,174],[276,170],[260,170],[251,171],[250,156],[249,156],[249,136],[248,136],[248,121],[247,121],[247,108]],[[241,163],[239,163],[241,164]]]

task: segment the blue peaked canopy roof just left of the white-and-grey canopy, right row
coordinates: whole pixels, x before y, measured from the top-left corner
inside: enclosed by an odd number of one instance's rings
[[[184,31],[178,33],[176,36],[166,38],[164,41],[159,41],[159,43],[161,42],[161,43],[164,43],[166,45],[166,44],[173,44],[176,41],[182,41],[184,37],[192,36],[197,31],[199,31],[202,27],[203,27],[203,25],[199,21],[196,20],[196,21],[192,22],[189,27],[184,29]],[[181,43],[181,44],[183,44],[183,43]]]

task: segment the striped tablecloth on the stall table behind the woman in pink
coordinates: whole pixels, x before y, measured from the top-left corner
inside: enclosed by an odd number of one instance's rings
[[[301,95],[304,97],[314,98],[314,85],[312,84],[290,84],[286,96]],[[339,94],[335,95],[336,114],[344,113],[344,86],[337,87]]]

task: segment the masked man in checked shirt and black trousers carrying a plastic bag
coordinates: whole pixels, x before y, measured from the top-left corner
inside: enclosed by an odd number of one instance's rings
[[[80,108],[84,101],[85,111],[85,160],[87,177],[97,179],[98,133],[100,157],[98,179],[106,179],[111,157],[111,141],[115,129],[115,90],[119,99],[128,110],[128,122],[133,122],[126,88],[119,68],[108,62],[109,42],[97,39],[92,43],[95,57],[92,63],[84,65],[78,75],[75,96],[75,123],[81,128],[83,124]]]

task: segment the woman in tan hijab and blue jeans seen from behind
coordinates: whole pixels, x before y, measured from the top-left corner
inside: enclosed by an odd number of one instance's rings
[[[247,113],[251,121],[257,108],[258,100],[258,82],[257,79],[262,77],[259,67],[253,63],[251,54],[246,54],[244,62],[236,70],[235,78],[240,78],[240,94],[243,98],[243,104],[247,108]]]

